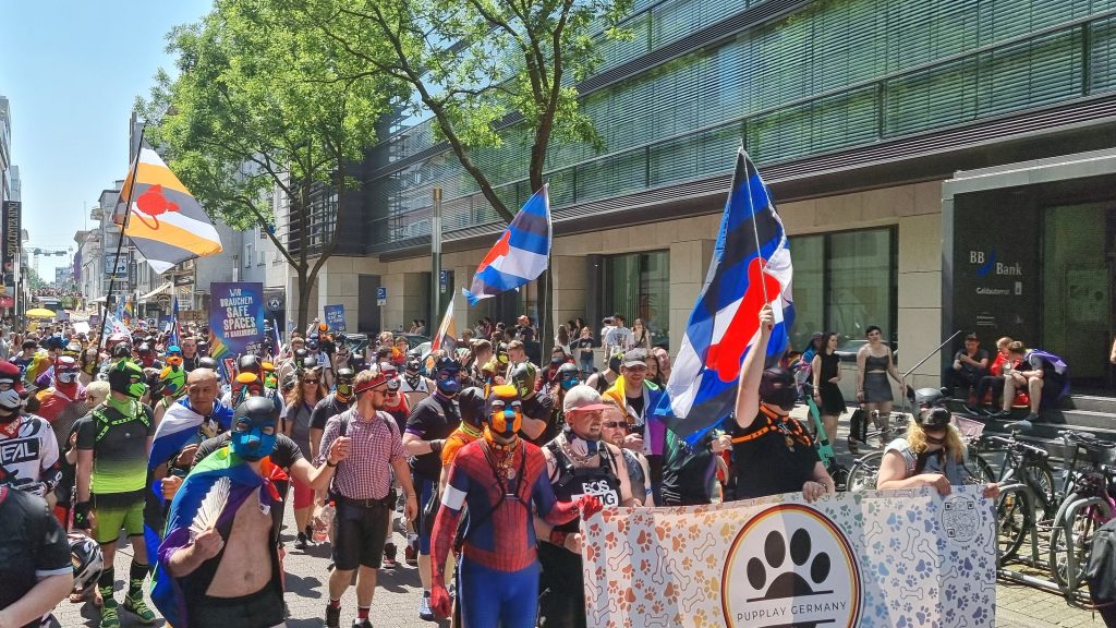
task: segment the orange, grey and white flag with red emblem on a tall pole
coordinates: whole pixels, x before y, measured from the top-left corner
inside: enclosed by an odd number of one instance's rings
[[[132,238],[156,273],[165,273],[187,259],[221,253],[221,237],[213,222],[155,151],[140,149],[137,163],[121,190],[113,220],[121,225],[125,211],[131,212],[124,235]],[[127,208],[123,207],[125,203]]]

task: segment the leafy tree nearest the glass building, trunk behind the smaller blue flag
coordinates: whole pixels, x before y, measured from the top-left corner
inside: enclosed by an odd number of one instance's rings
[[[629,37],[617,25],[631,0],[277,1],[331,40],[352,67],[398,82],[408,107],[434,116],[440,136],[507,221],[514,211],[494,189],[497,174],[474,159],[478,149],[519,134],[530,143],[527,175],[538,190],[552,143],[603,146],[575,85],[600,60],[596,29]],[[539,282],[540,294],[549,294],[549,272]],[[543,323],[552,318],[549,299],[541,310]],[[548,352],[549,330],[540,340]]]

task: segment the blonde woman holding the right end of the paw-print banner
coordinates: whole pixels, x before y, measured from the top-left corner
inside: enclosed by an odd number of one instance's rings
[[[965,466],[968,455],[961,432],[950,425],[950,411],[926,408],[911,419],[905,438],[887,444],[876,488],[933,486],[941,495],[949,495],[952,486],[974,482]],[[984,486],[985,497],[994,498],[999,494],[998,484]]]

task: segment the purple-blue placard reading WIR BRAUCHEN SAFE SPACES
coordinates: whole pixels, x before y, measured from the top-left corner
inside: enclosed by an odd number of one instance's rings
[[[259,353],[263,345],[263,284],[212,283],[210,294],[210,355],[223,367],[225,358]]]

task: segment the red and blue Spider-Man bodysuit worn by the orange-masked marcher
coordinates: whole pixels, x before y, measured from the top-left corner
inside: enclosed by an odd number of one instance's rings
[[[510,459],[509,459],[510,457]],[[542,451],[521,439],[497,445],[491,436],[461,448],[434,522],[431,561],[435,583],[454,544],[462,510],[469,507],[458,603],[465,628],[531,628],[539,597],[531,502],[552,525],[578,516],[576,502],[558,502]]]

